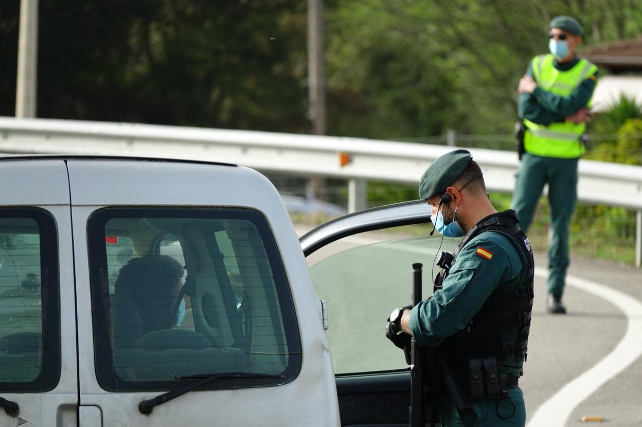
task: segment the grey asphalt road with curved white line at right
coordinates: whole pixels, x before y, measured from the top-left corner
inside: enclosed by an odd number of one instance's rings
[[[358,240],[334,245],[345,250],[365,243]],[[609,427],[642,426],[642,270],[573,258],[564,295],[568,314],[551,315],[546,255],[535,254],[535,265],[528,360],[520,379],[527,426],[600,424],[583,417],[602,417]]]

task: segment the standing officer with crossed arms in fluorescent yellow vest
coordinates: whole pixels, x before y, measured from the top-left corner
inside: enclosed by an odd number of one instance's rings
[[[528,231],[537,200],[548,184],[552,240],[548,248],[548,299],[551,313],[566,313],[562,293],[569,265],[569,223],[577,200],[581,141],[591,120],[591,97],[598,69],[575,49],[584,31],[568,16],[550,22],[550,54],[528,64],[519,81],[519,118],[526,127],[525,153],[512,200],[521,227]]]

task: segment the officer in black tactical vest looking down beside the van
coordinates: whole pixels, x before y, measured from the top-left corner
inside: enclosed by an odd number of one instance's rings
[[[442,426],[524,426],[517,382],[533,302],[528,238],[514,211],[498,213],[490,204],[482,171],[467,150],[436,159],[421,178],[419,196],[431,205],[437,231],[463,239],[433,296],[412,309],[395,309],[386,336],[400,348],[410,335],[436,347],[455,374],[471,407],[460,411],[444,396]]]

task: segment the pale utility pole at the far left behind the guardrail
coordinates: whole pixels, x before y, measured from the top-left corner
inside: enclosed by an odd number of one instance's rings
[[[35,118],[38,84],[38,0],[20,1],[15,117]]]

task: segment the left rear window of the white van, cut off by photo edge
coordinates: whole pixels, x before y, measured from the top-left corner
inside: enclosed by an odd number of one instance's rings
[[[45,211],[0,209],[0,392],[51,390],[60,378],[57,246]]]

